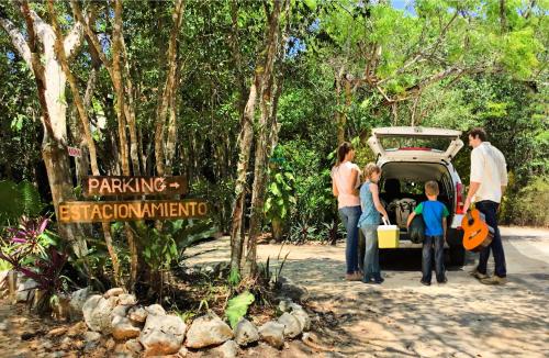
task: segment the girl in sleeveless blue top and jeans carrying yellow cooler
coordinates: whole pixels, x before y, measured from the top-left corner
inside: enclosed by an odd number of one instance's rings
[[[388,220],[386,211],[379,200],[378,181],[381,177],[381,169],[373,163],[369,163],[363,171],[365,183],[360,188],[360,205],[362,214],[358,221],[358,227],[365,234],[365,283],[381,283],[381,272],[379,268],[378,248],[378,226],[380,213]]]

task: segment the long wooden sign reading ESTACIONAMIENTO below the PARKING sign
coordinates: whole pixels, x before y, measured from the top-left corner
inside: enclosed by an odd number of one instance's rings
[[[72,201],[59,204],[59,222],[93,223],[153,219],[204,217],[208,204],[200,199],[150,201]]]

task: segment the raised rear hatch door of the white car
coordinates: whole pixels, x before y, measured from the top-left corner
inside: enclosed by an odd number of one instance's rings
[[[393,161],[451,161],[463,147],[461,131],[421,126],[373,128],[368,145],[377,158]]]

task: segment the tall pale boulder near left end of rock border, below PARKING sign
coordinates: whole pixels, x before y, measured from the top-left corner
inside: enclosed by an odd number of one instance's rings
[[[91,331],[110,334],[111,314],[117,305],[116,297],[104,299],[99,294],[90,297],[82,306],[83,320]]]

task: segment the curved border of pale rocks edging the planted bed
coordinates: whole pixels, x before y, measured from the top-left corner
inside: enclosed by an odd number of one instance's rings
[[[32,283],[21,282],[21,293],[27,293]],[[284,283],[291,284],[293,292],[304,292],[293,283]],[[16,292],[10,293],[13,297]],[[303,306],[288,297],[276,300],[279,300],[277,318],[257,327],[243,317],[232,329],[213,312],[195,317],[188,326],[181,317],[167,314],[159,304],[138,304],[135,295],[122,288],[110,289],[103,294],[83,288],[67,298],[69,313],[65,318],[80,322],[83,318],[82,324],[88,328],[82,335],[85,353],[107,342],[108,346],[123,346],[136,356],[177,354],[184,357],[188,349],[192,349],[233,358],[259,342],[282,349],[285,340],[302,338],[311,329],[311,317]]]

